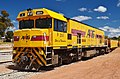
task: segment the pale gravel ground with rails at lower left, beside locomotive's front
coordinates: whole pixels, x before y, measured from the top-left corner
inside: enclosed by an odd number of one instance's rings
[[[0,53],[0,79],[24,79],[25,76],[36,74],[34,71],[20,71],[14,68],[10,53]]]

